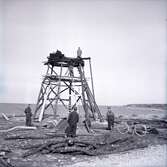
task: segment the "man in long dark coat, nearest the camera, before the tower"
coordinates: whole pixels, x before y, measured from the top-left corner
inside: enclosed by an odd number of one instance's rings
[[[76,137],[77,123],[79,121],[79,115],[77,113],[77,107],[74,107],[73,111],[68,116],[68,127],[66,129],[67,137]]]

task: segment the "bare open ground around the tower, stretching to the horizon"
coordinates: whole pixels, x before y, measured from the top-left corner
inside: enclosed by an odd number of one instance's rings
[[[106,122],[92,122],[93,133],[88,133],[82,123],[83,112],[80,108],[80,122],[77,129],[77,137],[74,142],[89,142],[98,149],[81,150],[75,152],[47,152],[47,149],[33,152],[33,147],[48,142],[66,142],[64,138],[65,125],[57,123],[57,126],[49,123],[53,120],[51,113],[42,123],[34,122],[35,130],[14,129],[16,126],[24,126],[23,114],[26,104],[1,104],[0,121],[0,151],[5,162],[15,167],[53,167],[53,166],[165,166],[167,144],[166,106],[126,105],[112,106],[116,116],[115,127],[112,131],[106,130]],[[32,107],[33,108],[33,107]],[[100,106],[103,115],[106,115],[107,107]],[[68,112],[59,106],[58,120],[67,117]],[[117,125],[122,121],[140,122],[154,129],[148,131],[145,136],[121,134],[117,131]],[[156,130],[155,130],[156,129]],[[6,131],[5,131],[6,130]],[[8,130],[8,131],[7,131]],[[84,147],[82,147],[84,148]],[[86,148],[87,149],[87,148]],[[28,154],[27,154],[28,153]],[[5,158],[4,158],[5,157]],[[120,159],[120,161],[118,161]],[[142,160],[143,159],[143,160]],[[151,161],[149,161],[150,159]]]

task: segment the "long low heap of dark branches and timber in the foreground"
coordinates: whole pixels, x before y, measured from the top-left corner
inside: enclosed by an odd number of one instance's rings
[[[23,158],[41,153],[60,153],[60,154],[85,154],[89,156],[96,156],[100,154],[109,154],[116,150],[116,147],[121,147],[122,144],[126,145],[127,142],[131,143],[132,137],[124,137],[115,139],[108,143],[101,143],[95,141],[84,141],[79,139],[64,139],[59,141],[48,141],[43,144],[28,145],[24,149],[29,149],[23,154]],[[132,142],[133,143],[133,142]],[[147,145],[146,145],[147,146]],[[135,148],[135,147],[134,147]],[[132,149],[132,147],[131,147]]]

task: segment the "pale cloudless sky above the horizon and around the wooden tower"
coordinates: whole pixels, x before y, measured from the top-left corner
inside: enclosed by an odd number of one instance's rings
[[[91,57],[100,105],[166,103],[166,0],[0,0],[0,102],[36,103],[43,61]]]

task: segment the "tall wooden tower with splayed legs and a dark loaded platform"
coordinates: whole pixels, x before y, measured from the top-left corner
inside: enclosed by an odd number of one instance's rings
[[[82,51],[78,48],[76,58],[66,57],[59,50],[56,53],[50,53],[49,57],[47,57],[48,60],[44,63],[47,66],[47,71],[38,95],[33,115],[34,119],[39,113],[38,120],[39,122],[42,121],[44,112],[49,107],[52,108],[56,118],[59,102],[71,112],[77,103],[81,101],[86,120],[90,117],[90,114],[95,120],[97,116],[101,121],[103,120],[95,102],[91,58],[82,58],[81,54]],[[85,77],[85,61],[89,61],[92,91]],[[81,93],[77,88],[81,88]],[[62,98],[61,96],[65,92],[66,98]],[[72,94],[75,96],[74,102],[72,102]]]

